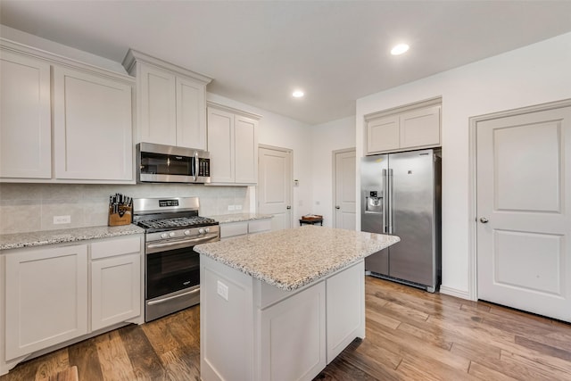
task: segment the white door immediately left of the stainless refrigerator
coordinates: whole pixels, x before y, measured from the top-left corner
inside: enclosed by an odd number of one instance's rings
[[[334,154],[335,228],[355,230],[355,150],[336,151]]]

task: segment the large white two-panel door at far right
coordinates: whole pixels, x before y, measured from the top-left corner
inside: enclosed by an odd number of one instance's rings
[[[478,298],[571,321],[571,106],[476,134]]]

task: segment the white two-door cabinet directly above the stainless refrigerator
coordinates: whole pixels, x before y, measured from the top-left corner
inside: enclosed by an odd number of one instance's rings
[[[441,98],[365,116],[365,154],[440,146]]]

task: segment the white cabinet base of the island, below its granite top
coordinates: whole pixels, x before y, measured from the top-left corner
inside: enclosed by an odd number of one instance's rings
[[[361,260],[284,291],[201,254],[201,378],[312,380],[365,337],[364,275]]]

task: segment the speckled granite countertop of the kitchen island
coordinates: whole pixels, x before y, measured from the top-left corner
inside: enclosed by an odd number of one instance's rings
[[[238,236],[194,250],[285,291],[293,291],[396,244],[401,238],[305,225]]]

